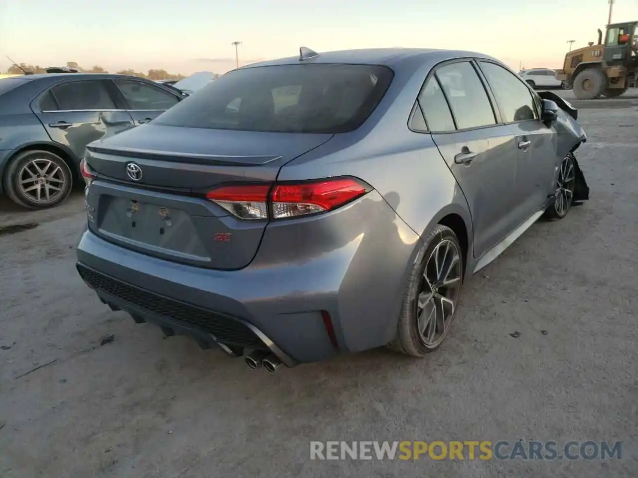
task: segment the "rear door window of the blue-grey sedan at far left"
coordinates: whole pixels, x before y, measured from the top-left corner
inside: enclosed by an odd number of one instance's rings
[[[67,82],[51,89],[59,110],[115,110],[102,80]]]

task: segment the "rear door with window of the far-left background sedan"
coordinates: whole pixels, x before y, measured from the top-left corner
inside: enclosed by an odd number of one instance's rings
[[[106,80],[64,79],[32,103],[53,141],[66,146],[76,161],[86,145],[133,127],[133,119],[109,94]]]

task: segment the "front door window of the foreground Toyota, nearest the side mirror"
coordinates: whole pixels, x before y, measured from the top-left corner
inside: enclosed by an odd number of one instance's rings
[[[521,80],[494,63],[480,62],[480,68],[503,110],[505,122],[537,119],[530,89]]]

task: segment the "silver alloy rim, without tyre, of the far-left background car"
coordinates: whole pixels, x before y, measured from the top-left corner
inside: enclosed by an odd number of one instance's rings
[[[59,199],[64,194],[66,182],[63,169],[50,159],[32,159],[18,173],[20,193],[36,204],[52,203]]]

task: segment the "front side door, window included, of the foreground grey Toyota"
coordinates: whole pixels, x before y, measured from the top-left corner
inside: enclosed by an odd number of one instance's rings
[[[490,61],[479,61],[500,108],[516,137],[516,195],[519,222],[537,212],[553,193],[556,130],[540,120],[542,102],[514,73]]]

